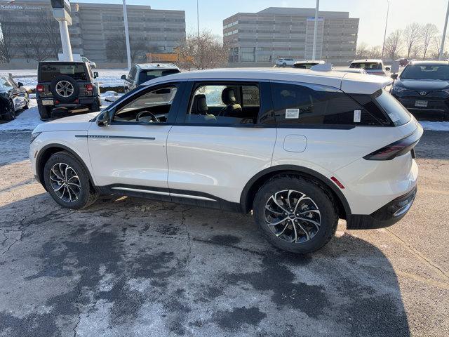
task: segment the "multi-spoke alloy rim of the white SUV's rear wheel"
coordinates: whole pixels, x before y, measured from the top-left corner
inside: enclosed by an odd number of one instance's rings
[[[295,190],[283,190],[269,197],[265,222],[276,237],[290,243],[312,239],[321,227],[321,213],[314,200]]]

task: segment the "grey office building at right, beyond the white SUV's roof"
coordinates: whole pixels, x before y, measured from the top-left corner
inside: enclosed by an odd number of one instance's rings
[[[236,13],[223,20],[223,42],[230,65],[274,64],[277,58],[310,60],[314,42],[314,8],[269,7]],[[347,65],[356,54],[358,18],[349,12],[320,11],[316,59]]]

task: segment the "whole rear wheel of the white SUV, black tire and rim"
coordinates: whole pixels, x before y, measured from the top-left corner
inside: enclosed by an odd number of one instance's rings
[[[321,249],[337,230],[332,196],[317,183],[298,176],[268,180],[255,195],[253,211],[264,237],[293,253]]]

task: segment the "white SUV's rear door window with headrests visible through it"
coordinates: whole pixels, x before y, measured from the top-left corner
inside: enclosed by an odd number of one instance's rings
[[[256,124],[260,91],[257,84],[200,84],[190,102],[187,124]]]

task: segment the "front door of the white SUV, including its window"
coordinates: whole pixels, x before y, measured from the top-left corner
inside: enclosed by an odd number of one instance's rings
[[[87,137],[96,185],[168,199],[166,140],[180,91],[180,83],[142,89],[111,108],[109,126],[92,124]]]

